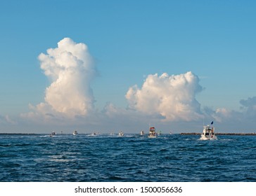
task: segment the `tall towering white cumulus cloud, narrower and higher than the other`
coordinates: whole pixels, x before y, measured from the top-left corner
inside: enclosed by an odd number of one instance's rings
[[[49,48],[38,58],[51,85],[46,88],[45,102],[34,109],[66,117],[87,115],[94,107],[90,82],[96,73],[87,45],[63,38],[57,48]]]

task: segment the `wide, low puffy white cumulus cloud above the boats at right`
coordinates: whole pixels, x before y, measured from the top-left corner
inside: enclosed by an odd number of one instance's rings
[[[169,76],[167,73],[148,75],[141,89],[130,87],[126,99],[129,109],[149,115],[159,114],[165,121],[197,120],[202,118],[196,93],[202,87],[191,71]]]

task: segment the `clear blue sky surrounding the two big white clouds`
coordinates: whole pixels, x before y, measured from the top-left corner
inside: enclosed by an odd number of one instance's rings
[[[1,2],[0,132],[107,131],[104,127],[139,132],[149,124],[165,131],[200,131],[203,120],[214,120],[219,130],[226,132],[253,131],[255,6],[255,1]],[[47,122],[43,113],[41,120],[25,115],[39,113],[31,106],[51,105],[45,97],[53,80],[40,68],[39,55],[57,48],[63,38],[87,45],[94,62],[96,74],[86,85],[95,99],[90,112],[94,116],[79,117],[89,123],[72,119],[66,125],[61,120]],[[161,118],[148,117],[147,106],[137,104],[148,76],[183,76],[188,71],[199,78],[195,83],[202,89],[192,101],[186,101],[200,117],[168,120],[162,113],[169,111],[161,111],[161,107],[152,113]],[[134,85],[138,87],[136,95],[127,98]],[[195,100],[200,106],[193,105]],[[110,105],[120,119],[105,116]],[[132,112],[141,120],[133,120]]]

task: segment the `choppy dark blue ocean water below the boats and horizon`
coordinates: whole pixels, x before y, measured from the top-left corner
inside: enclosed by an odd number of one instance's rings
[[[256,181],[256,137],[0,134],[0,181]]]

